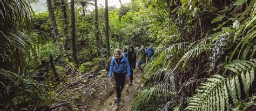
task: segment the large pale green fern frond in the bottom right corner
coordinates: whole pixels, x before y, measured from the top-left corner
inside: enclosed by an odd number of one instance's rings
[[[232,63],[233,65],[231,65]],[[190,99],[185,110],[230,110],[232,109],[230,106],[238,107],[241,97],[247,98],[249,96],[250,86],[255,75],[255,62],[247,64],[249,61],[237,60],[232,63],[227,64],[225,68],[234,68],[235,70],[232,69],[231,71],[234,71],[237,75],[232,78],[224,78],[220,75],[213,75],[212,78],[208,78],[198,88],[198,93]],[[247,66],[240,68],[238,64]],[[242,93],[245,93],[245,95],[242,95]],[[231,97],[231,100],[229,97]],[[243,107],[239,109],[243,109]]]

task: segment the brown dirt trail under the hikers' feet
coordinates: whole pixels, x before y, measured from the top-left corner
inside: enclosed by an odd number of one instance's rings
[[[114,104],[114,99],[116,98],[116,90],[113,90],[109,97],[102,97],[92,103],[92,106],[88,107],[86,110],[131,110],[130,103],[132,100],[138,95],[141,91],[140,85],[140,77],[141,75],[138,74],[138,70],[134,70],[133,82],[132,85],[129,85],[129,82],[125,82],[125,87],[121,95],[121,101],[119,106],[117,107]],[[100,98],[100,97],[99,97]]]

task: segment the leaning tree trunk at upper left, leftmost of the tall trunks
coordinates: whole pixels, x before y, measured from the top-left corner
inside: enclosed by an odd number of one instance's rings
[[[51,0],[46,0],[46,2],[47,2],[48,11],[49,11],[49,17],[51,19],[51,24],[52,24],[52,28],[53,28],[53,34],[54,34],[53,41],[56,42],[58,35],[59,35],[58,26],[57,26],[56,19],[54,16]]]

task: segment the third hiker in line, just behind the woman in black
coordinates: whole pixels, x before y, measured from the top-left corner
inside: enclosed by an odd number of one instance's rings
[[[140,69],[140,73],[142,73],[143,71],[142,66],[140,65],[147,63],[147,60],[148,60],[147,56],[148,56],[147,51],[144,48],[144,45],[142,45],[142,48],[140,48],[137,53],[137,60],[138,60],[137,66]]]

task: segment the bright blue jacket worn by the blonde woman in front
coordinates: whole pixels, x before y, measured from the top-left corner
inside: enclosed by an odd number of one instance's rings
[[[119,65],[117,63],[117,58],[112,58],[109,69],[109,77],[112,77],[113,71],[117,73],[126,73],[128,77],[131,76],[130,65],[125,56],[121,58]]]

